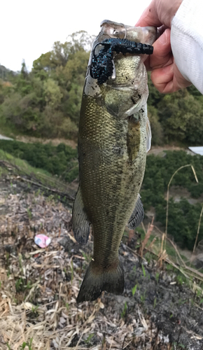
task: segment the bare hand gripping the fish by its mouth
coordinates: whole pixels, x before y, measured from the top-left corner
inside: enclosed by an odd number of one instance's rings
[[[137,22],[140,27],[159,27],[159,38],[153,43],[153,55],[146,59],[146,69],[152,71],[153,85],[162,93],[174,92],[191,85],[180,73],[172,53],[171,24],[182,0],[153,0]]]

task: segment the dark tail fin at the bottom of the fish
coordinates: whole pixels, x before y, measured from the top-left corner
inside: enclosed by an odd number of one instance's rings
[[[90,262],[83,283],[78,293],[77,302],[93,301],[103,290],[114,294],[122,294],[124,290],[124,272],[122,262],[118,260],[116,267],[97,269],[94,260]]]

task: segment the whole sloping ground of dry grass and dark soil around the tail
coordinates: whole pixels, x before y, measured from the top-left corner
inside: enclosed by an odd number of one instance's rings
[[[123,295],[77,305],[92,239],[76,243],[70,211],[36,186],[6,175],[0,188],[0,350],[203,349],[202,289],[147,251],[141,258],[137,232],[120,245]],[[34,244],[38,233],[48,248]]]

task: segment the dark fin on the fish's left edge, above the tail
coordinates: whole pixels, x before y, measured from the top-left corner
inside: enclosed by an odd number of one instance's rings
[[[72,225],[76,241],[80,244],[86,244],[90,235],[90,221],[85,213],[80,187],[78,188],[73,204]]]

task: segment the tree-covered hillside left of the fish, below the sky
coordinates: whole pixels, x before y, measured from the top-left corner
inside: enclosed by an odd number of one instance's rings
[[[29,73],[6,70],[0,79],[1,132],[76,139],[92,37],[85,31],[55,42]]]

